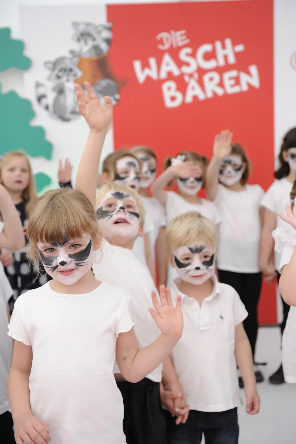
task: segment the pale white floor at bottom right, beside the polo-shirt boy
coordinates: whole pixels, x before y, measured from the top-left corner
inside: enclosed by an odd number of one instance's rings
[[[257,361],[265,381],[258,384],[261,409],[250,416],[245,405],[239,409],[240,444],[296,444],[296,384],[271,385],[270,376],[280,365],[280,329],[261,328],[257,342]],[[241,390],[242,400],[245,397]],[[204,440],[202,441],[204,444]]]

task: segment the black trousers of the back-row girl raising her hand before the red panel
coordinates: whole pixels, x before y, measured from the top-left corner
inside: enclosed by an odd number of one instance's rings
[[[262,285],[261,273],[235,273],[218,270],[219,281],[231,285],[239,294],[249,316],[244,321],[244,328],[249,338],[253,357],[258,335],[258,302]]]

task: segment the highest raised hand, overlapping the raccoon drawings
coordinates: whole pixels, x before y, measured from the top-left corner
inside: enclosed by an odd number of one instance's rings
[[[112,121],[112,99],[106,95],[103,106],[88,82],[85,82],[85,87],[87,91],[75,85],[79,112],[92,130],[107,131]]]

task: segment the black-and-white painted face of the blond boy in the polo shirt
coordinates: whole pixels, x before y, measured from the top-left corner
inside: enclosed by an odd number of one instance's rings
[[[215,273],[215,254],[212,247],[193,244],[178,248],[174,262],[182,281],[201,285]]]

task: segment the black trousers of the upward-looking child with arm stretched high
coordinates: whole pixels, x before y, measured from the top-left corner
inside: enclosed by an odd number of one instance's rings
[[[127,444],[166,444],[166,420],[159,383],[144,378],[133,384],[118,381],[124,404],[123,431]]]

